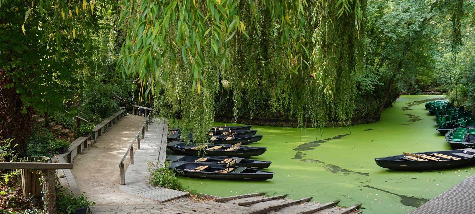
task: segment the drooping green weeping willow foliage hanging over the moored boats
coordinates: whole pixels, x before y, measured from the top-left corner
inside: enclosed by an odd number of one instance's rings
[[[348,124],[362,70],[364,0],[125,0],[120,63],[159,116],[205,139],[220,80],[241,105],[268,101],[305,127]],[[244,99],[247,100],[244,102]]]

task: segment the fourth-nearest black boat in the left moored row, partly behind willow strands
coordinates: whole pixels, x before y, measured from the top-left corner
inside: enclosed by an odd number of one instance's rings
[[[193,135],[188,135],[188,138],[193,142]],[[243,145],[254,143],[262,139],[262,134],[213,134],[209,135],[209,142],[221,143],[221,144],[236,144],[242,143]],[[182,141],[183,138],[181,134],[169,134],[168,141]]]

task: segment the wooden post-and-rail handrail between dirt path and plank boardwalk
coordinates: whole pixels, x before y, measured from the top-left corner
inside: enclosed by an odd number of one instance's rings
[[[141,107],[141,106],[136,106],[132,105],[133,107]],[[125,158],[127,158],[127,155],[130,153],[130,164],[133,164],[133,153],[134,153],[134,148],[133,144],[137,142],[137,149],[140,149],[140,139],[145,139],[145,132],[148,131],[148,126],[150,125],[150,121],[153,119],[153,108],[147,108],[147,107],[142,107],[147,110],[150,110],[147,117],[145,118],[145,121],[143,122],[142,127],[140,128],[140,131],[135,135],[133,138],[132,143],[130,144],[129,148],[125,152],[125,154],[122,157],[122,160],[119,163],[119,168],[120,168],[120,184],[125,185]],[[133,113],[135,111],[133,110]]]

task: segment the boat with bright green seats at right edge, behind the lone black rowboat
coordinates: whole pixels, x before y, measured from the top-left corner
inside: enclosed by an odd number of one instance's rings
[[[445,138],[450,147],[454,149],[475,147],[475,126],[454,128],[445,134]]]

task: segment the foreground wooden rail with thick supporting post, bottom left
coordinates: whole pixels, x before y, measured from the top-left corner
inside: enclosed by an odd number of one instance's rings
[[[73,169],[73,164],[0,162],[0,169],[41,169],[44,214],[56,214],[55,169]]]

